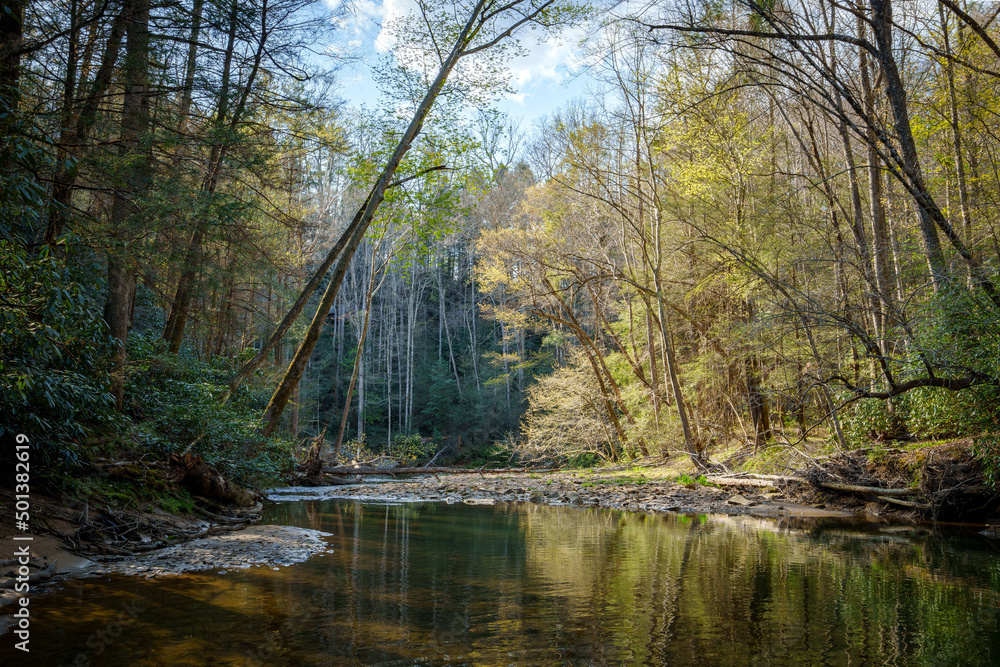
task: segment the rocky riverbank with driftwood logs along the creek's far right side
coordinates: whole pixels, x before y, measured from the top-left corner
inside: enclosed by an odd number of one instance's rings
[[[531,472],[372,476],[326,468],[323,497],[387,501],[532,502],[640,512],[858,517],[876,522],[1000,524],[1000,494],[985,484],[971,439],[826,452],[775,445],[737,450],[711,471],[687,457],[626,466]],[[293,493],[295,493],[293,491]],[[299,495],[309,495],[301,491]]]

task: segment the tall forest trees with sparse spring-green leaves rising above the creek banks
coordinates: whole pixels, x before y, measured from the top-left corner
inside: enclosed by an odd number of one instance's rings
[[[0,431],[54,464],[975,436],[995,479],[995,3],[415,0],[352,108],[350,3],[2,2]],[[522,127],[557,38],[590,92]]]

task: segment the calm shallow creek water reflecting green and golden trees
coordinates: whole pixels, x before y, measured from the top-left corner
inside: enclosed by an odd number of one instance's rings
[[[1000,664],[1000,543],[956,531],[335,500],[266,521],[333,551],[67,582],[0,664]]]

